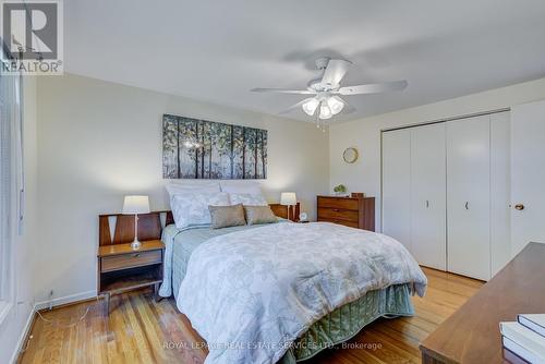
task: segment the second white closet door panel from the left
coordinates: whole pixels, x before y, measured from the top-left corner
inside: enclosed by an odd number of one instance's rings
[[[411,129],[411,247],[419,264],[445,270],[445,123]]]

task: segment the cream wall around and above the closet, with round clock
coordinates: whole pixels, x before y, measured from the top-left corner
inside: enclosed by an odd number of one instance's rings
[[[545,99],[545,78],[334,124],[329,128],[330,189],[343,183],[351,192],[364,192],[377,197],[376,228],[380,231],[380,130],[497,110],[540,99]],[[347,165],[342,161],[342,151],[351,146],[360,150],[360,159]]]

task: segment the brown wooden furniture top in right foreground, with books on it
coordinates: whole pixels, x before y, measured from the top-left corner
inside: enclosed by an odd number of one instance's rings
[[[504,353],[499,323],[543,313],[545,244],[530,243],[422,342],[422,363],[523,363]]]

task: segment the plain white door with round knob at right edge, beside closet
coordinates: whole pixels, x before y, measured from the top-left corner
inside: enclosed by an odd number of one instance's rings
[[[545,243],[545,101],[513,107],[511,119],[511,246],[517,254],[531,241]]]

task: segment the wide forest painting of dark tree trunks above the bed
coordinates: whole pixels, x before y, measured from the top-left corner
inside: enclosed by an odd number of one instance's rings
[[[267,131],[165,114],[162,177],[265,179]]]

